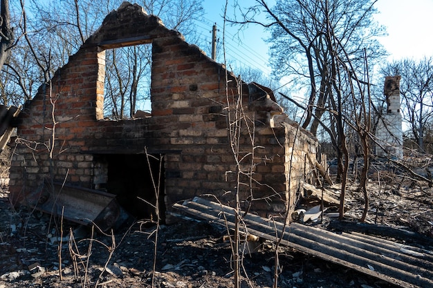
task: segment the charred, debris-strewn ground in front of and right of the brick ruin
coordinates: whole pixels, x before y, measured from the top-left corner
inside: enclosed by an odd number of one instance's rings
[[[347,201],[353,207],[350,210],[353,218],[362,212],[362,195],[356,192],[355,186],[350,188],[349,185]],[[97,284],[97,287],[152,287],[152,282],[153,287],[170,288],[233,286],[232,253],[230,244],[223,241],[223,236],[227,235],[224,227],[186,218],[161,225],[154,269],[156,234],[152,232],[155,227],[136,222],[118,229],[113,235],[96,230],[92,233],[90,227],[80,227],[66,220],[61,222],[59,218],[26,207],[12,209],[7,195],[7,187],[3,187],[0,197],[0,288],[95,287]],[[431,190],[410,186],[399,191],[380,189],[380,195],[371,195],[373,209],[367,220],[404,226],[431,237],[431,195]],[[329,220],[311,225],[326,229],[327,222]],[[64,238],[60,243],[62,235]],[[257,253],[246,255],[241,287],[273,287],[274,261],[272,242],[264,242]],[[279,287],[394,287],[347,267],[284,247],[279,248],[279,267]]]

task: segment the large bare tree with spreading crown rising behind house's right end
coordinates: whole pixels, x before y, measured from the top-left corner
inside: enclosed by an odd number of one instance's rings
[[[332,44],[326,39],[326,19],[341,46],[336,52],[341,55],[344,48],[353,68],[362,72],[364,48],[371,64],[385,55],[375,39],[383,35],[383,28],[372,18],[376,12],[375,2],[289,0],[277,1],[275,7],[270,8],[266,1],[259,0],[245,14],[247,21],[254,21],[257,9],[265,8],[268,13],[270,21],[263,24],[272,32],[268,41],[272,45],[270,59],[274,74],[291,79],[296,90],[308,91],[308,115],[302,126],[309,127],[313,135],[317,134],[319,120],[328,108],[329,99],[335,97],[330,86],[333,75],[329,66],[333,55],[330,53]]]

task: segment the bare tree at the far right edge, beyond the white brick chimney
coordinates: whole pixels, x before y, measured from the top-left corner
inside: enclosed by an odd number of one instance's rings
[[[433,122],[433,58],[394,61],[384,66],[381,73],[401,76],[402,116],[409,128],[406,136],[414,140],[418,151],[425,152],[425,140]]]

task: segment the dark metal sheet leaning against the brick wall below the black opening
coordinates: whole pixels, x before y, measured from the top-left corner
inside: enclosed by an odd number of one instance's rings
[[[117,227],[129,215],[116,201],[116,195],[93,189],[44,182],[21,204],[84,225],[95,224],[102,231]]]

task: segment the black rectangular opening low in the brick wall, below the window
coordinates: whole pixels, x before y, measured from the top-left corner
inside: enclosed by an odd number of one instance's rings
[[[105,183],[98,184],[98,187],[115,194],[119,204],[138,220],[156,220],[156,211],[152,206],[156,204],[158,190],[160,220],[165,222],[163,159],[162,155],[98,155],[95,167],[107,175],[99,177]]]

